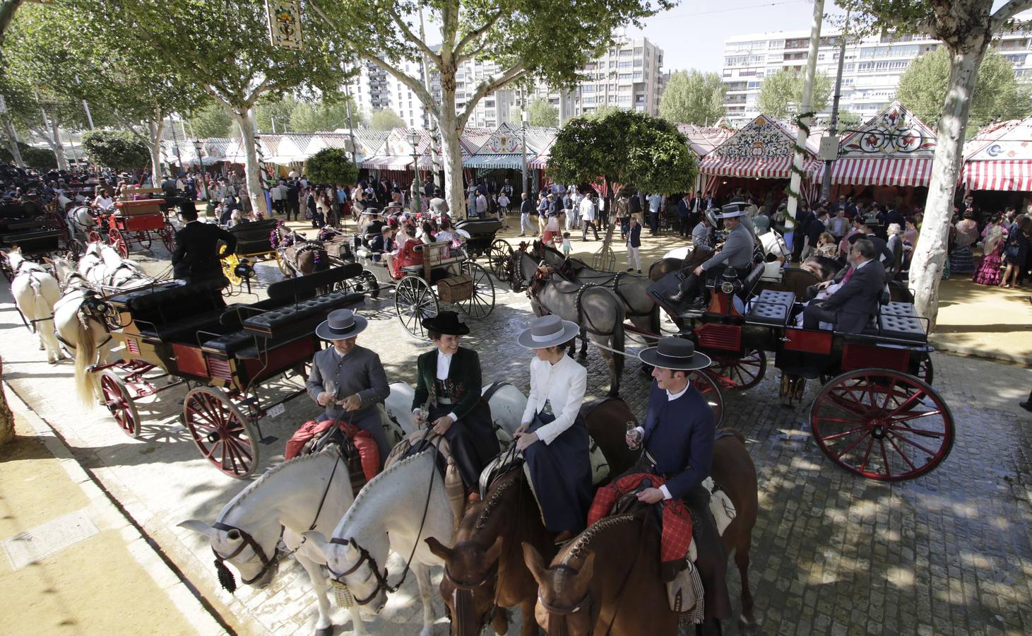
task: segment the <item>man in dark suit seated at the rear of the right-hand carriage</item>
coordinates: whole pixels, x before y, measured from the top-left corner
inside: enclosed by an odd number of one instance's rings
[[[861,239],[854,243],[848,256],[852,269],[840,281],[826,281],[818,285],[823,288],[838,283],[841,287],[825,300],[806,306],[803,327],[816,329],[820,322],[830,322],[834,330],[843,333],[863,331],[877,313],[885,286],[885,267],[875,256],[877,251],[870,241]]]

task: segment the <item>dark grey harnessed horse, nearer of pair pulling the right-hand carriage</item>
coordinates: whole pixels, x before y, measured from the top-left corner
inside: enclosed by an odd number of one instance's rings
[[[535,315],[555,314],[580,326],[581,359],[587,357],[588,339],[601,345],[599,352],[609,368],[609,395],[619,395],[623,373],[623,303],[606,287],[572,283],[554,271],[542,272],[526,252],[515,252],[511,262],[511,272],[526,288]],[[571,343],[571,351],[575,346],[575,342]]]

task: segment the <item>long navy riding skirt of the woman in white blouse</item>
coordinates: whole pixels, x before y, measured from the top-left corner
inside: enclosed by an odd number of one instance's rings
[[[534,433],[555,415],[538,413],[528,428]],[[523,451],[538,494],[545,527],[550,532],[584,530],[591,506],[591,457],[587,426],[580,415],[551,444],[535,442]]]

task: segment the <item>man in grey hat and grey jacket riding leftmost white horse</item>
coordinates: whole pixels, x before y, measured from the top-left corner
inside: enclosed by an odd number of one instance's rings
[[[380,465],[383,466],[391,447],[380,423],[377,403],[390,394],[390,387],[380,356],[355,344],[366,326],[368,322],[365,318],[350,309],[330,312],[326,320],[316,327],[316,336],[328,340],[332,346],[317,352],[312,359],[312,372],[305,387],[309,395],[326,408],[324,421],[354,424],[373,436],[380,451]],[[294,437],[301,433],[298,431]]]

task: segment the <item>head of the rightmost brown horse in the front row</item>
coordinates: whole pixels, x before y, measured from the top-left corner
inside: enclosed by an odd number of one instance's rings
[[[594,552],[579,567],[557,564],[545,566],[541,553],[529,543],[523,544],[523,561],[538,581],[538,603],[534,617],[538,625],[554,636],[591,633],[591,575]]]

